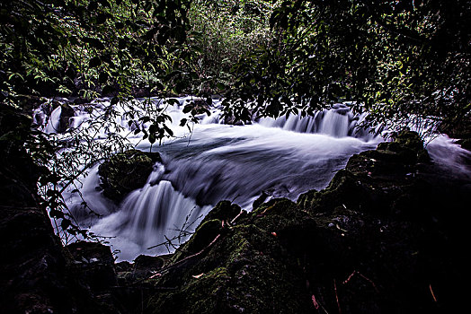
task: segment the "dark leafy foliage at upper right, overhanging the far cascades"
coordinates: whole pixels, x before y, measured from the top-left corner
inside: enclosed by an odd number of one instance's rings
[[[227,111],[312,113],[356,101],[376,123],[413,115],[469,118],[471,5],[467,1],[285,1],[275,40],[236,65]]]

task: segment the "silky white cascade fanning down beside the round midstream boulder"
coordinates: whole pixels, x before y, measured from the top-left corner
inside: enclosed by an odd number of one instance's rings
[[[123,252],[120,259],[131,260],[143,252],[172,252],[172,245],[178,247],[188,240],[212,208],[198,206],[190,197],[175,191],[170,181],[161,180],[163,173],[164,166],[157,164],[143,188],[131,192],[116,213],[92,227],[95,233],[115,236],[110,242]],[[168,240],[172,240],[172,245],[168,245]]]

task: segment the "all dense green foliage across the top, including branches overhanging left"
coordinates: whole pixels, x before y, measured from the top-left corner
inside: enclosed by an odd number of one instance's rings
[[[57,96],[109,96],[137,122],[151,122],[138,132],[154,143],[173,135],[169,117],[146,105],[139,115],[132,99],[181,93],[222,94],[225,114],[240,120],[305,116],[351,100],[371,123],[469,121],[470,17],[463,0],[2,2],[1,122],[31,115],[42,97],[57,106]],[[186,109],[182,125],[200,110]],[[110,108],[95,126],[117,114]],[[60,191],[94,161],[128,148],[115,134],[94,143],[87,131],[59,140],[25,122],[0,138],[6,154],[26,149],[49,168],[40,180],[44,206],[73,234],[71,217],[57,210]]]

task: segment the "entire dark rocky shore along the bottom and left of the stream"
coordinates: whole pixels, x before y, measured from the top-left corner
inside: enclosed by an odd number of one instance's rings
[[[417,313],[466,301],[471,187],[440,179],[413,132],[352,156],[296,203],[219,202],[174,254],[134,263],[98,243],[62,248],[27,169],[1,169],[6,313]]]

